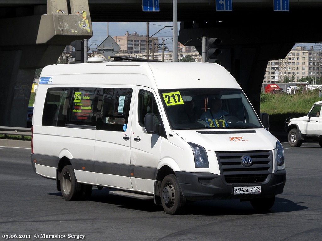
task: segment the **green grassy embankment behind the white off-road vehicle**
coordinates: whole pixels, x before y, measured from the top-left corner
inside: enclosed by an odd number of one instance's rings
[[[285,119],[305,116],[312,105],[322,100],[319,91],[306,91],[297,94],[260,94],[260,112],[266,112],[270,117],[270,128],[283,130]]]

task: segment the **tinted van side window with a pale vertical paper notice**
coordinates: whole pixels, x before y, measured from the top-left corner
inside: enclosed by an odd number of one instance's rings
[[[128,124],[131,98],[132,89],[102,88],[99,94],[96,129],[124,131],[125,124]]]

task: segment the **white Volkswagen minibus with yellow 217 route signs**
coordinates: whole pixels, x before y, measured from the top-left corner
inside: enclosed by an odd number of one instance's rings
[[[35,97],[31,161],[66,200],[107,187],[154,199],[168,214],[205,199],[268,210],[286,171],[283,147],[260,116],[218,64],[51,65]]]

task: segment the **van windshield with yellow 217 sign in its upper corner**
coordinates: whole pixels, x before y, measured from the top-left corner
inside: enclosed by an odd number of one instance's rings
[[[172,129],[262,128],[239,89],[160,90]]]

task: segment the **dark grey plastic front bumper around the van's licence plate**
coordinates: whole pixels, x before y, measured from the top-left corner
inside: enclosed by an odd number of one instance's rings
[[[269,174],[265,183],[227,184],[221,175],[209,173],[175,172],[180,188],[188,200],[269,198],[282,193],[286,171]],[[260,194],[233,194],[233,187],[261,186]]]

